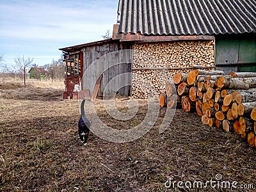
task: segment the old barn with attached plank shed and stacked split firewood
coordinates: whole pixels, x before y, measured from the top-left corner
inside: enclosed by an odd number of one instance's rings
[[[90,95],[147,98],[180,71],[256,72],[255,31],[255,0],[120,0],[113,38],[60,50]]]

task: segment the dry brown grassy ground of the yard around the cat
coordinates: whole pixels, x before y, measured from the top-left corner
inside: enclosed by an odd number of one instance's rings
[[[164,185],[217,181],[217,174],[219,181],[256,188],[256,150],[234,133],[202,125],[195,113],[177,109],[159,134],[161,109],[153,129],[138,140],[111,143],[91,134],[84,147],[77,136],[78,102],[61,100],[62,92],[51,83],[0,86],[0,191],[253,191]],[[127,110],[126,99],[117,102]],[[118,129],[136,126],[147,113],[145,100],[138,103],[138,113],[126,122],[110,118],[100,99],[97,113]]]

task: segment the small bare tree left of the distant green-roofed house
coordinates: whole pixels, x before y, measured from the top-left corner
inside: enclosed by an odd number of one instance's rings
[[[14,58],[17,68],[19,70],[19,74],[24,75],[24,85],[26,85],[26,70],[33,63],[34,58],[24,58],[24,56],[17,56]]]

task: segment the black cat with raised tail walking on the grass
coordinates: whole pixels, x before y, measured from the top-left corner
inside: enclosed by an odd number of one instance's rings
[[[81,116],[78,122],[78,134],[81,142],[84,143],[84,145],[87,145],[91,124],[84,114],[84,102],[85,100],[81,103]]]

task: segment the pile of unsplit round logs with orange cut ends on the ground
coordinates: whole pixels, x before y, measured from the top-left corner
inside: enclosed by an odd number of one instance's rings
[[[175,74],[173,84],[166,84],[166,93],[174,88],[177,93],[172,94],[180,98],[184,111],[196,111],[203,124],[236,132],[255,147],[256,73],[232,72],[225,76],[219,70],[191,70]],[[168,107],[168,100],[168,94],[159,95],[160,106]]]

